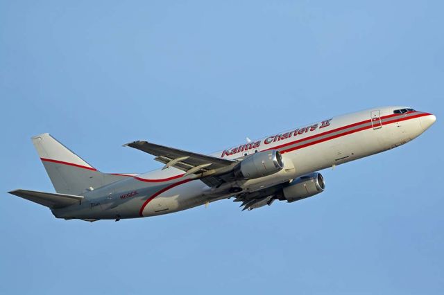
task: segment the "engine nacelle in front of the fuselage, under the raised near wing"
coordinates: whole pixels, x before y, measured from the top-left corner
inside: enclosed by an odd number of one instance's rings
[[[257,152],[246,157],[234,169],[234,175],[243,179],[255,179],[272,175],[284,168],[282,156],[278,150]]]

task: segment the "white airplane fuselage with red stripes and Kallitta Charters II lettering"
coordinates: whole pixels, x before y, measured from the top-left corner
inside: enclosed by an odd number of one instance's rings
[[[284,169],[257,179],[235,181],[210,188],[176,168],[141,175],[121,175],[122,180],[85,193],[83,204],[53,210],[57,217],[114,219],[161,215],[182,211],[207,202],[231,197],[226,186],[243,193],[283,184],[302,175],[340,165],[371,154],[398,147],[425,131],[435,118],[432,114],[379,107],[324,120],[287,132],[272,134],[212,154],[224,159],[248,157],[264,150],[279,150]]]

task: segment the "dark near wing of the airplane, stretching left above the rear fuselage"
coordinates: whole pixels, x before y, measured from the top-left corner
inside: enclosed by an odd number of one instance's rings
[[[218,186],[225,182],[219,175],[230,172],[236,163],[239,163],[238,161],[156,145],[155,143],[148,143],[148,141],[134,141],[123,146],[133,147],[152,154],[155,156],[155,161],[165,164],[162,170],[169,167],[178,168],[185,171],[185,176],[196,175],[200,177],[200,180],[208,186]]]

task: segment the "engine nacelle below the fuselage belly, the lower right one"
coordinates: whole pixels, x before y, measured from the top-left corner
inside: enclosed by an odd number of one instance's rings
[[[295,202],[322,193],[324,189],[324,177],[321,173],[314,172],[293,180],[289,186],[282,189],[282,193],[288,202]]]

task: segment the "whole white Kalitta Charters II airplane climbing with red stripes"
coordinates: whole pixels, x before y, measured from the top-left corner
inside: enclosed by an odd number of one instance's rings
[[[318,170],[391,150],[434,124],[411,107],[376,107],[198,154],[148,141],[133,147],[164,164],[142,174],[103,173],[49,134],[32,138],[56,193],[9,193],[51,209],[65,220],[151,217],[234,198],[244,210],[296,202],[325,190]]]

